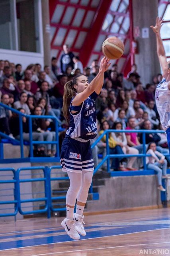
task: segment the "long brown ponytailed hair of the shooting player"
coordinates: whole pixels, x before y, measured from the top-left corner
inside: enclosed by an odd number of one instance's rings
[[[70,121],[70,101],[72,97],[76,96],[76,89],[74,88],[74,84],[77,83],[77,78],[82,76],[82,74],[74,76],[72,81],[66,82],[64,85],[64,95],[63,95],[63,114],[66,122],[69,123]]]

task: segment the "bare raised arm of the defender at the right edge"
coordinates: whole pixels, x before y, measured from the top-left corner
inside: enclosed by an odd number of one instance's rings
[[[166,60],[166,54],[165,54],[164,46],[163,46],[163,43],[162,43],[162,39],[160,37],[160,28],[162,26],[162,22],[163,22],[162,18],[157,17],[155,26],[150,26],[150,28],[152,28],[153,32],[156,34],[157,54],[158,54],[160,65],[162,67],[163,77],[167,78],[167,76],[168,76],[168,63],[167,63],[167,60]]]

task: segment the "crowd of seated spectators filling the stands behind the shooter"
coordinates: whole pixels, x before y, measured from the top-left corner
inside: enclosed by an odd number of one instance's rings
[[[25,70],[21,64],[0,60],[0,98],[1,102],[27,115],[52,115],[59,122],[59,126],[66,128],[62,106],[64,84],[77,74],[84,74],[91,82],[99,72],[98,60],[93,60],[91,66],[83,67],[78,56],[70,52],[67,45],[63,46],[60,66],[57,58],[51,59],[51,66],[42,67],[39,63],[29,64]],[[96,99],[96,114],[100,134],[107,128],[119,130],[161,129],[158,112],[155,105],[154,91],[162,80],[162,75],[153,77],[152,83],[143,84],[137,65],[134,64],[127,78],[118,72],[117,64],[105,74],[103,89]],[[23,138],[29,140],[28,121],[23,117]],[[15,124],[15,125],[14,125]],[[55,125],[51,119],[33,119],[33,140],[54,141]],[[20,139],[18,115],[0,107],[0,131],[11,138]],[[63,138],[64,132],[61,134]],[[60,140],[62,142],[62,140]],[[163,134],[147,134],[146,144],[156,143],[156,150],[168,152],[166,137]],[[113,154],[138,154],[143,150],[141,134],[111,133],[109,134],[109,148]],[[102,152],[106,155],[106,138],[94,148],[94,162],[98,164],[96,156]],[[35,148],[36,156],[55,156],[54,144],[40,144]],[[130,159],[130,158],[129,158]],[[125,159],[113,159],[113,170],[135,170],[135,157],[128,160],[127,167],[123,166]],[[167,158],[168,165],[170,159]],[[103,166],[106,168],[106,165]]]

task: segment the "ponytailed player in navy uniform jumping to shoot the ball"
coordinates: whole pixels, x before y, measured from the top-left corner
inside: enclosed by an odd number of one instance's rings
[[[80,235],[86,236],[82,214],[94,170],[90,146],[90,139],[97,134],[94,100],[100,94],[104,72],[109,65],[109,59],[104,57],[98,75],[90,84],[86,76],[77,75],[64,86],[63,113],[69,128],[61,148],[61,166],[68,173],[70,187],[66,194],[66,218],[61,225],[68,236],[75,240],[80,239]]]

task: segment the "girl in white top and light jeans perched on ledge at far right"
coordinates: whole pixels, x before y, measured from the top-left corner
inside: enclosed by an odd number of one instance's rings
[[[164,189],[162,186],[162,178],[168,178],[168,176],[166,175],[167,161],[165,159],[165,156],[156,150],[155,142],[149,143],[147,154],[151,155],[146,157],[147,168],[157,172],[158,190],[166,191],[166,189]]]

